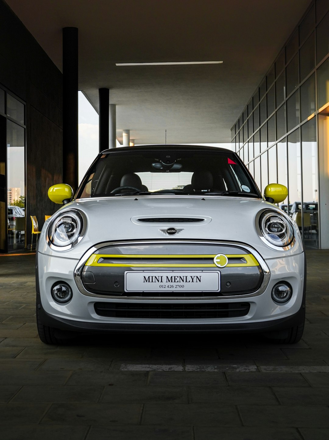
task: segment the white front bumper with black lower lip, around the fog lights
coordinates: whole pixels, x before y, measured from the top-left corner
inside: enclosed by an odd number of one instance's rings
[[[290,328],[303,321],[305,313],[305,258],[304,253],[263,260],[270,277],[263,293],[238,297],[212,298],[124,298],[84,294],[79,290],[74,274],[80,260],[55,257],[38,253],[37,259],[37,308],[44,325],[60,330],[81,333],[106,332],[270,332]],[[73,298],[66,304],[58,304],[51,297],[51,287],[58,281],[67,282],[73,290]],[[271,298],[273,286],[280,281],[292,286],[292,298],[285,304],[277,304]],[[250,304],[246,315],[219,318],[152,318],[101,316],[95,311],[95,303],[103,304]]]

